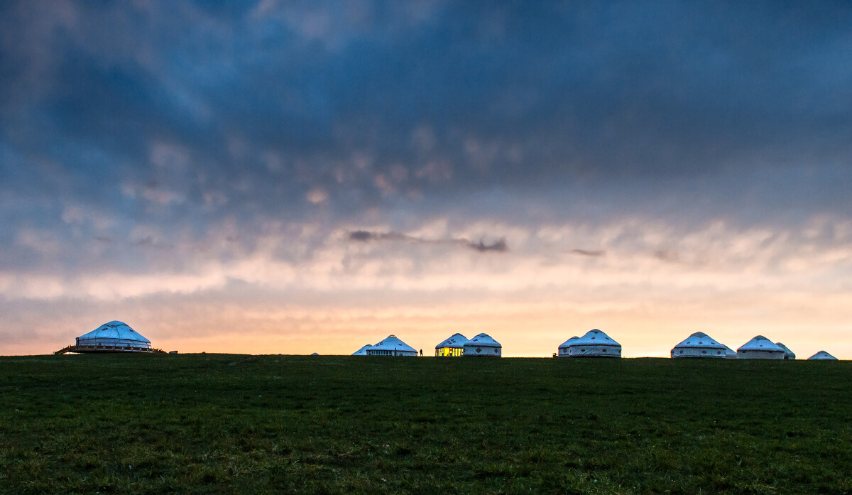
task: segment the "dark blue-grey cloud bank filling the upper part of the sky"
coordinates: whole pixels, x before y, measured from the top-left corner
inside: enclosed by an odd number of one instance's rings
[[[509,217],[517,198],[849,211],[848,3],[264,4],[4,3],[0,254],[144,268],[177,248],[137,225],[235,219],[239,251],[268,219]],[[103,256],[39,256],[26,229]]]

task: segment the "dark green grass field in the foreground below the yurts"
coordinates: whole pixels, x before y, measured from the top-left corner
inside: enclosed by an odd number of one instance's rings
[[[852,363],[0,358],[3,493],[849,493]]]

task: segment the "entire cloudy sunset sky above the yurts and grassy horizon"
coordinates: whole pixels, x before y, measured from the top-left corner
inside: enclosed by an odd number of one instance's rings
[[[0,354],[852,359],[852,5],[0,3]]]

